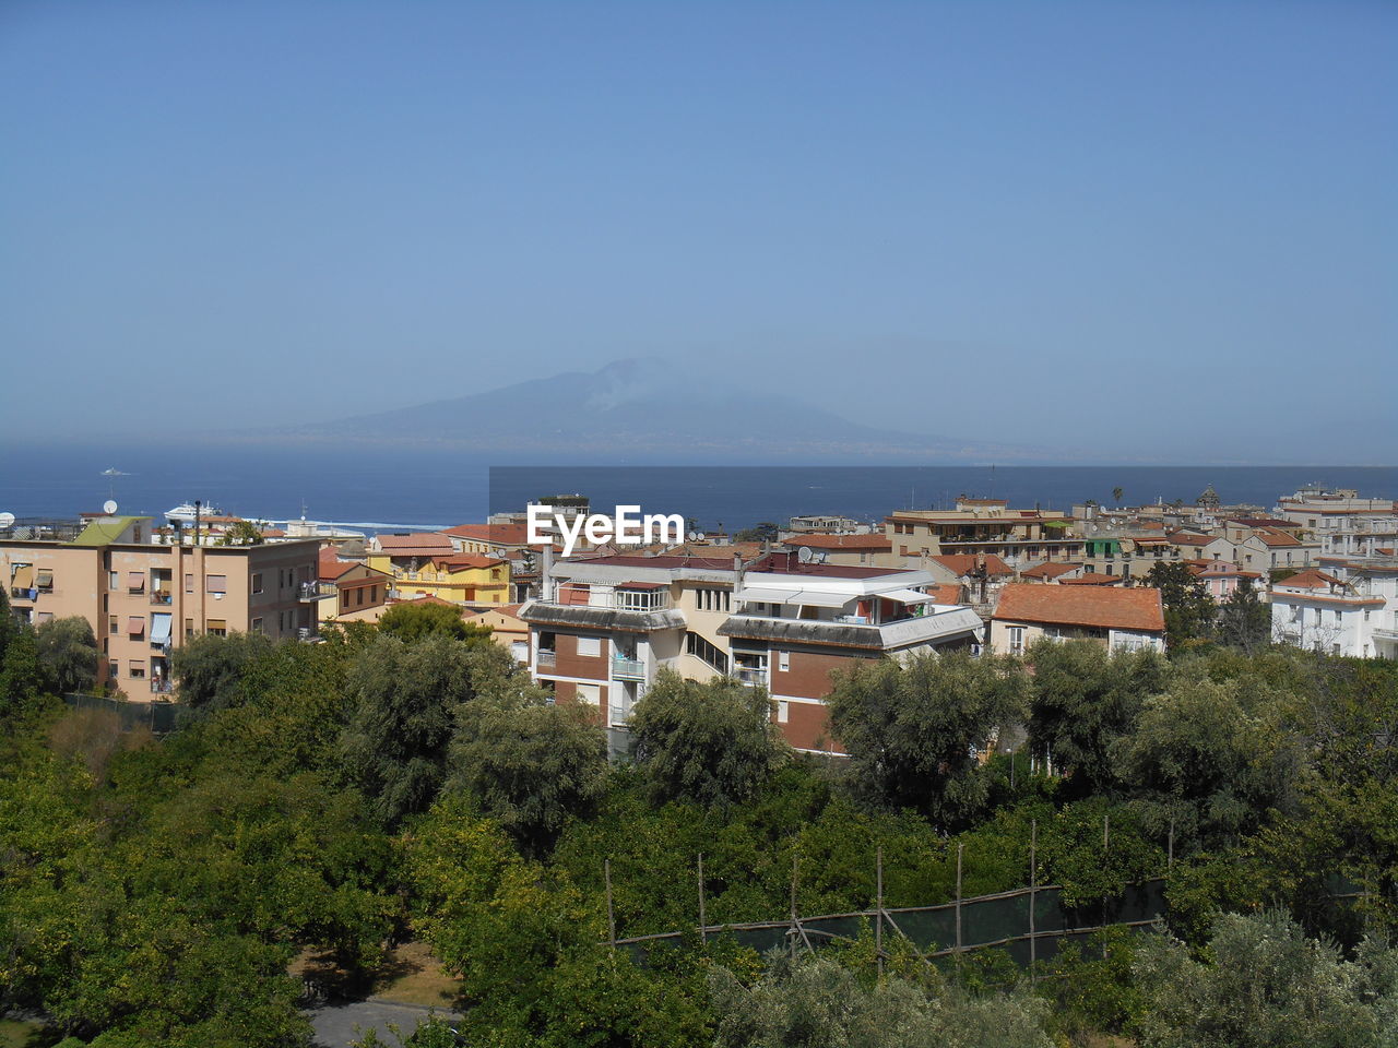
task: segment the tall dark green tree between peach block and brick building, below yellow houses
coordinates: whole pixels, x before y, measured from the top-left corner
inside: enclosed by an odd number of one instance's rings
[[[502,686],[496,644],[474,648],[442,634],[405,644],[387,634],[350,665],[350,722],[340,738],[345,771],[386,824],[422,812],[446,777],[457,707]]]

